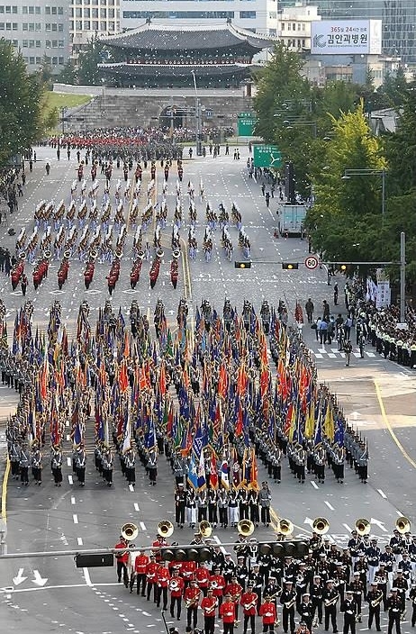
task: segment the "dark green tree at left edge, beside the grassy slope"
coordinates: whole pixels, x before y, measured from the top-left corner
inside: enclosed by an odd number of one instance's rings
[[[28,75],[23,57],[0,40],[0,166],[41,138],[43,86]]]

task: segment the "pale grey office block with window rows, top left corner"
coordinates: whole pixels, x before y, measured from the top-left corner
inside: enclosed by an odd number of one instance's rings
[[[29,72],[47,61],[52,73],[59,73],[69,55],[68,0],[23,2],[14,0],[14,5],[6,5],[0,0],[0,38],[22,52]]]

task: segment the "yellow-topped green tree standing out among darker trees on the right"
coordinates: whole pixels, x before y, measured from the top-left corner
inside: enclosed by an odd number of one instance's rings
[[[315,204],[306,226],[312,245],[330,261],[379,259],[385,240],[380,177],[343,177],[346,169],[385,168],[380,140],[371,135],[362,103],[331,121],[321,161],[311,166]]]

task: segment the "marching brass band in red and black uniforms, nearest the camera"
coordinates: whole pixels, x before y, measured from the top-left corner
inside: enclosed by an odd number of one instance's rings
[[[248,538],[246,527],[227,550],[205,536],[211,532],[203,522],[189,545],[193,560],[184,547],[180,562],[169,550],[169,525],[160,522],[147,550],[136,549],[135,535],[122,532],[114,547],[117,578],[130,593],[169,611],[171,619],[184,619],[186,631],[213,634],[220,622],[229,632],[242,625],[243,634],[255,634],[259,626],[263,632],[336,633],[342,620],[343,631],[354,634],[363,620],[368,629],[382,631],[384,612],[389,634],[393,628],[400,634],[403,620],[416,624],[416,536],[407,518],[396,522],[384,548],[369,535],[366,520],[357,520],[348,546],[339,548],[324,537],[329,524],[318,518],[303,557],[275,557],[267,544]],[[291,538],[281,539],[285,544]]]

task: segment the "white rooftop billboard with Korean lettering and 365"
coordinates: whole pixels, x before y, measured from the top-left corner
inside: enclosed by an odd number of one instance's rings
[[[321,20],[311,23],[312,55],[380,55],[381,20]]]

